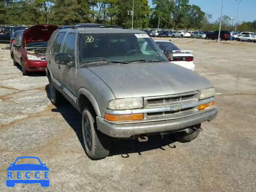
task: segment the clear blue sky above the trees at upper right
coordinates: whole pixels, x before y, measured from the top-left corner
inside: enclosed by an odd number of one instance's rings
[[[220,18],[222,0],[190,0],[190,4],[198,5],[202,11],[212,14],[213,22]],[[151,6],[152,0],[149,0]],[[238,2],[236,0],[224,0],[222,15],[236,18]],[[241,0],[239,4],[237,22],[256,20],[256,0]]]

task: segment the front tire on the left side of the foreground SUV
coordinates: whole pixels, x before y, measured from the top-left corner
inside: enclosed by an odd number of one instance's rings
[[[88,108],[84,108],[82,113],[82,135],[85,152],[90,159],[98,160],[108,156],[110,137],[97,129],[95,118]]]

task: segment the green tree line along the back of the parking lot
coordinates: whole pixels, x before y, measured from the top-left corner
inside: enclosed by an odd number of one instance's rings
[[[219,19],[210,23],[206,14],[189,0],[0,0],[0,24],[99,23],[134,28],[193,28],[218,30]],[[223,17],[223,30],[234,30],[228,16]],[[254,22],[243,22],[238,30],[256,31]]]

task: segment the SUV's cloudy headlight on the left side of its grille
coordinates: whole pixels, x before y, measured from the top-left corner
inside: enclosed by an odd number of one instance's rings
[[[143,108],[142,98],[115,99],[108,102],[108,109],[138,109]]]

